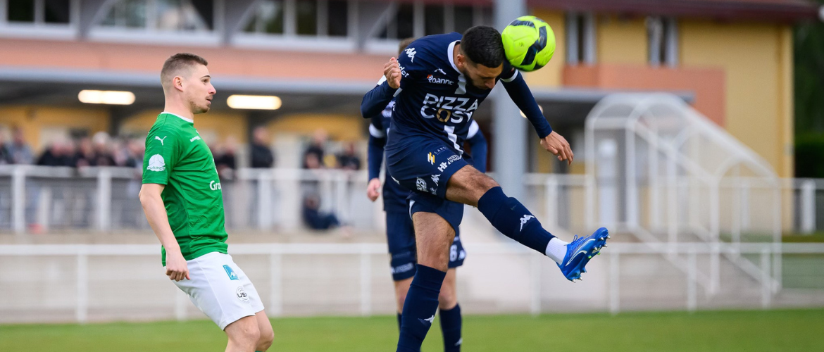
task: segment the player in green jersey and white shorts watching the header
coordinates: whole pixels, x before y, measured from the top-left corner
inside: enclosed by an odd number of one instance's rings
[[[166,275],[229,337],[227,352],[265,351],[274,333],[255,286],[227,254],[223,198],[194,115],[212,106],[207,62],[176,54],[163,63],[166,107],[146,137],[140,204],[162,244]]]

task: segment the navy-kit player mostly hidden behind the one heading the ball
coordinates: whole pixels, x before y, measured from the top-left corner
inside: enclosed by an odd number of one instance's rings
[[[402,40],[399,52],[403,52],[414,39]],[[369,184],[367,195],[369,199],[375,201],[380,195],[379,190],[383,190],[383,209],[386,212],[386,243],[389,246],[391,255],[392,280],[395,282],[395,296],[397,299],[397,317],[400,327],[401,312],[404,307],[406,293],[410,289],[410,283],[415,273],[415,237],[412,218],[406,204],[406,198],[410,190],[391,181],[388,171],[386,172],[386,183],[381,187],[381,180],[378,178],[383,161],[384,146],[386,145],[386,135],[391,123],[392,110],[395,101],[390,101],[386,109],[374,117],[369,124],[369,149],[368,149],[368,172]],[[466,143],[469,144],[474,161],[472,165],[480,172],[486,170],[487,143],[484,134],[480,132],[478,123],[472,121],[468,124],[469,130],[466,133]],[[467,154],[464,154],[466,157]],[[462,204],[459,204],[462,206]],[[443,346],[445,352],[457,352],[461,350],[461,307],[457,302],[456,295],[456,268],[463,265],[466,258],[466,251],[461,245],[461,236],[455,230],[455,238],[449,248],[449,263],[447,265],[447,275],[443,280],[440,293],[438,295],[438,308],[441,318],[441,331],[443,333]]]

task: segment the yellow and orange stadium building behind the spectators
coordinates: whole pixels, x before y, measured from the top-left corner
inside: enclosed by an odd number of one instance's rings
[[[550,64],[526,75],[550,123],[583,157],[583,118],[602,96],[675,92],[780,176],[792,176],[791,26],[815,20],[817,8],[799,0],[654,3],[524,3],[559,42]],[[218,99],[199,117],[208,143],[232,136],[245,145],[257,125],[281,141],[281,151],[319,127],[333,139],[363,140],[358,103],[399,39],[495,24],[493,3],[472,0],[0,5],[0,126],[22,129],[37,150],[59,136],[145,134],[162,108],[158,68],[179,51],[203,55],[215,77]],[[77,99],[82,90],[133,92],[134,100],[85,104]],[[281,103],[269,106],[276,110],[233,109],[226,104],[233,94],[278,96]],[[495,148],[515,136],[497,133],[491,111],[487,105],[475,117]],[[529,138],[528,171],[567,171],[541,153],[534,134],[524,131],[522,138]],[[279,166],[297,166],[290,160]]]

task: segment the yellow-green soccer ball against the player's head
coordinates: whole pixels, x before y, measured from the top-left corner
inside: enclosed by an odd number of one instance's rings
[[[503,51],[509,63],[521,71],[542,68],[555,54],[555,33],[536,16],[521,16],[503,29]]]

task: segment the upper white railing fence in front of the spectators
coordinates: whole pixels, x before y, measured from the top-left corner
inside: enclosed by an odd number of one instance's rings
[[[0,232],[148,230],[137,199],[139,177],[139,171],[131,168],[89,167],[78,171],[68,167],[0,166]],[[316,194],[321,199],[322,212],[336,214],[354,228],[381,229],[382,203],[380,200],[371,203],[366,198],[366,179],[365,171],[238,170],[235,180],[222,181],[227,228],[258,231],[301,228],[303,197]],[[730,180],[719,185],[714,207],[737,209],[719,211],[718,222],[719,226],[723,225],[722,229],[728,229],[723,233],[740,239],[742,232],[758,232],[757,226],[752,225],[758,218],[767,214],[766,218],[772,219],[774,215],[770,212],[774,211],[775,202],[761,200],[771,199],[775,190],[746,177]],[[605,189],[606,181],[598,182],[600,190]],[[675,188],[664,187],[662,192],[655,193],[667,199],[667,192],[686,190],[691,180],[677,177],[673,182],[677,185]],[[522,202],[541,214],[541,221],[548,228],[586,232],[591,230],[588,221],[592,221],[593,214],[604,211],[602,199],[593,197],[596,201],[588,197],[591,184],[585,175],[527,174],[524,184],[528,191]],[[783,179],[779,186],[782,231],[810,233],[824,228],[824,180]],[[652,189],[648,193],[652,195]],[[707,195],[709,192],[704,197]],[[656,218],[653,214],[660,216],[662,209],[667,209],[661,204],[653,207],[653,204],[646,207],[648,219]],[[611,204],[611,207],[622,208],[618,205],[621,204]],[[649,228],[660,230],[653,232],[661,232],[665,240],[673,239],[667,237],[672,231],[661,226],[663,222],[657,227],[652,221],[648,223]],[[694,230],[696,228],[682,231]]]

